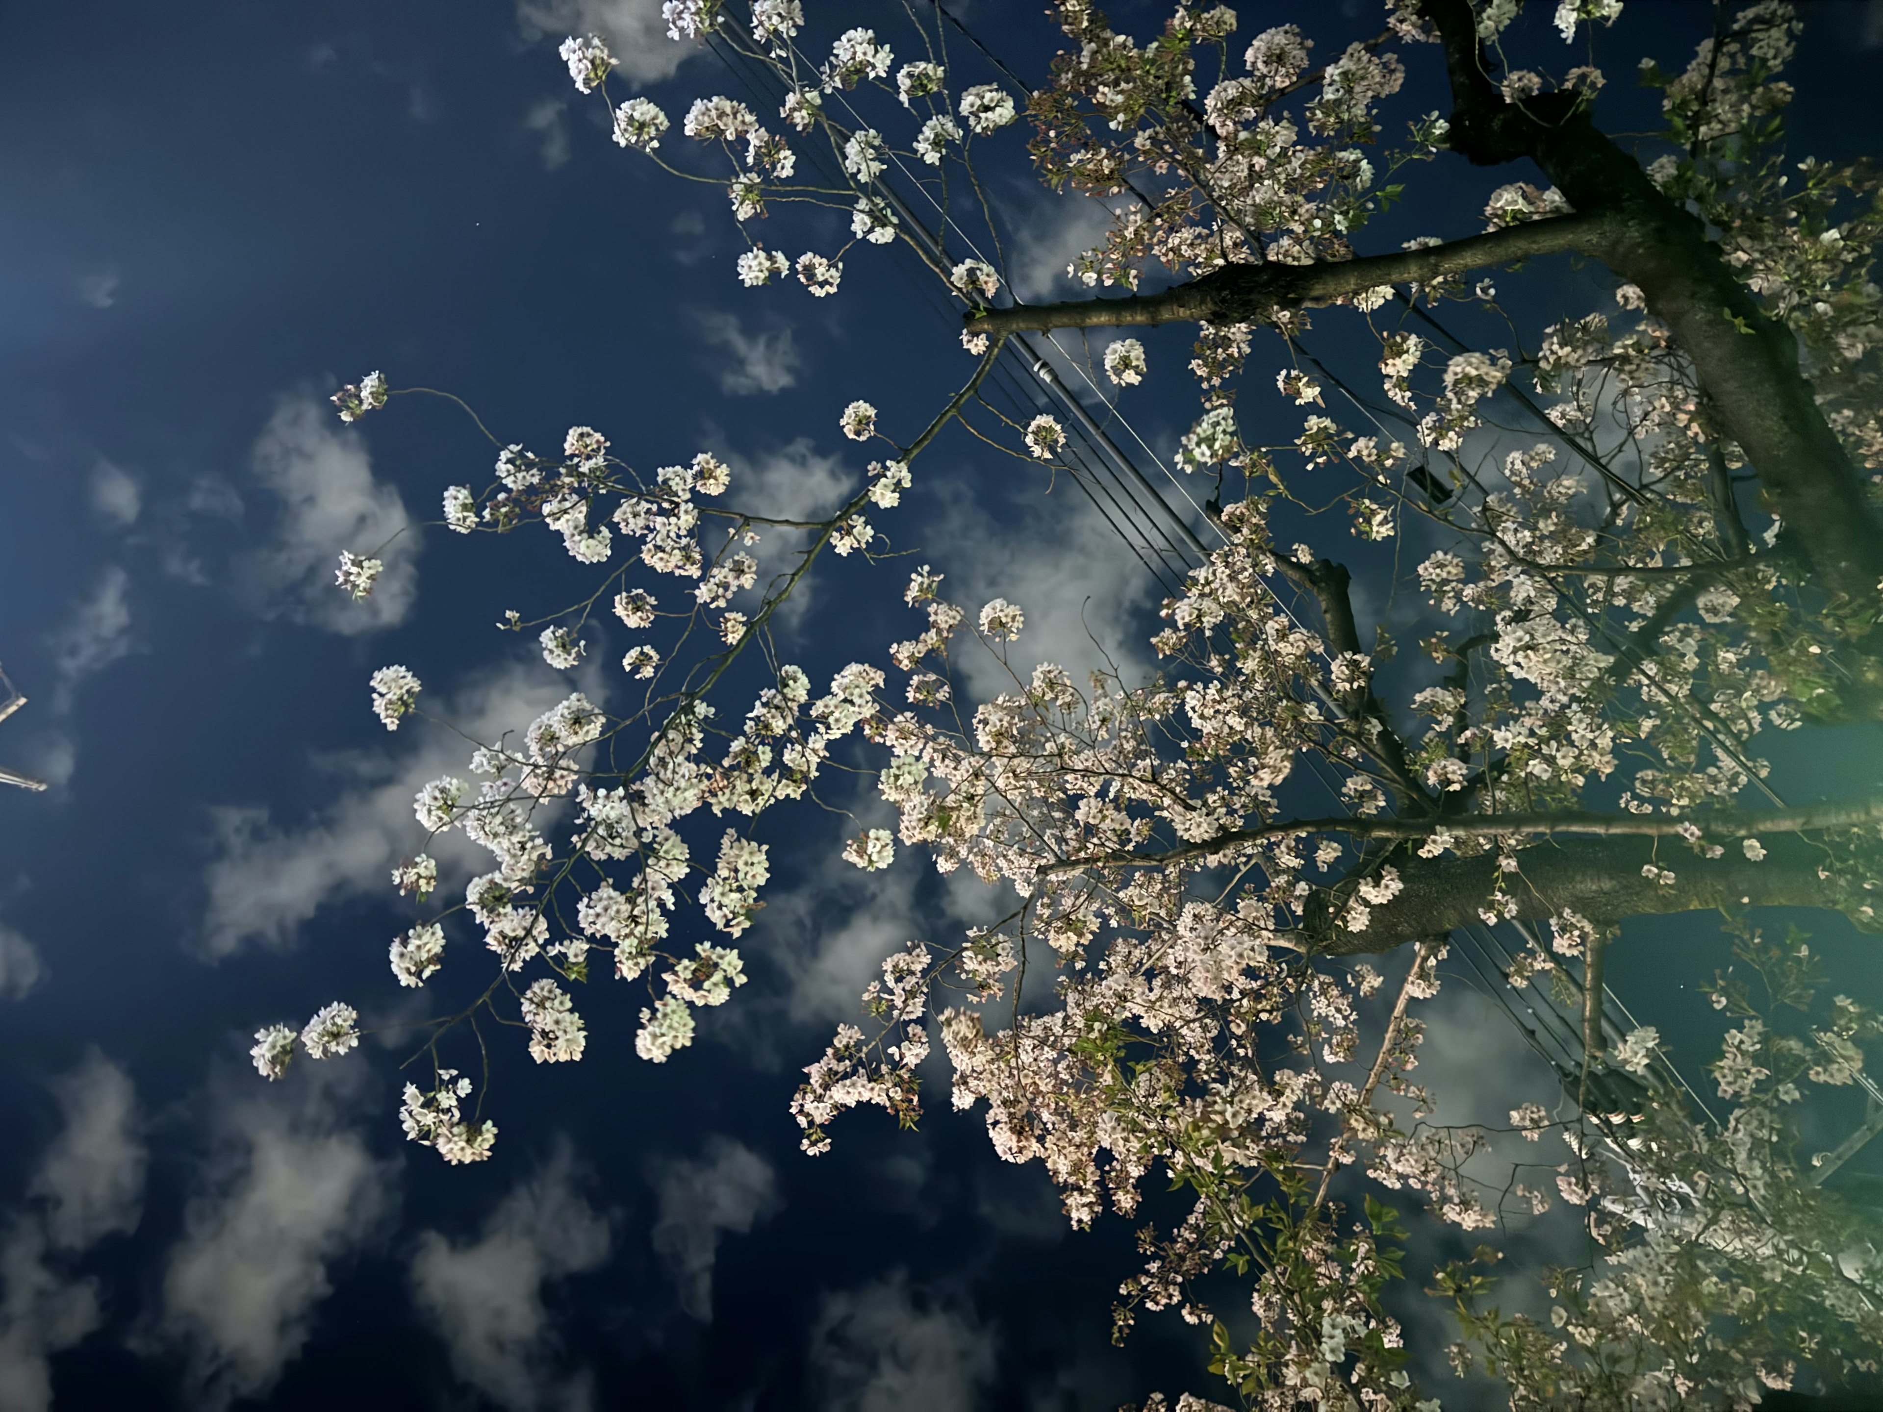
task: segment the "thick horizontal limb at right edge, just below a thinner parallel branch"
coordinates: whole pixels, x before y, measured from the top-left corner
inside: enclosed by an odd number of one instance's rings
[[[1309,919],[1316,951],[1333,956],[1393,951],[1433,932],[1450,932],[1482,921],[1480,911],[1499,879],[1516,921],[1548,921],[1576,911],[1595,923],[1657,917],[1676,911],[1738,907],[1832,907],[1849,915],[1862,892],[1851,892],[1836,875],[1819,877],[1823,849],[1804,840],[1772,840],[1762,862],[1738,849],[1723,858],[1700,858],[1638,838],[1589,838],[1552,847],[1525,849],[1521,872],[1501,874],[1495,855],[1476,858],[1407,858],[1399,864],[1405,889],[1392,902],[1373,907],[1363,932],[1343,930],[1331,915]],[[1672,874],[1646,875],[1653,864]],[[1868,924],[1868,921],[1864,923]]]

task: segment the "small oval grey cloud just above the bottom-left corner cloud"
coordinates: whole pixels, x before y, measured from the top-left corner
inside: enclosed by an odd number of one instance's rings
[[[45,1201],[53,1246],[85,1250],[107,1235],[137,1229],[145,1147],[130,1077],[92,1049],[77,1069],[53,1081],[53,1092],[66,1126],[26,1188]]]

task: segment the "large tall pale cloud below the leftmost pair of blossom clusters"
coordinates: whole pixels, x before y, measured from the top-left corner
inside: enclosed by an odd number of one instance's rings
[[[343,1118],[346,1060],[260,1088],[228,1081],[203,1192],[164,1269],[156,1335],[190,1365],[192,1404],[262,1397],[294,1361],[333,1267],[377,1235],[397,1165],[377,1162]]]

